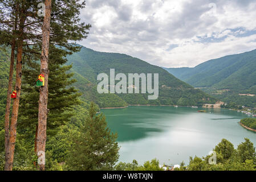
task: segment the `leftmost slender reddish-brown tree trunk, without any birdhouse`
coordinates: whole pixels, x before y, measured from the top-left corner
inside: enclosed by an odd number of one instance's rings
[[[9,74],[9,84],[7,90],[7,100],[5,109],[5,163],[9,160],[9,126],[10,126],[10,107],[11,107],[11,91],[13,87],[13,68],[14,68],[14,58],[15,58],[15,38],[11,44],[11,60],[10,60],[10,74]],[[7,170],[7,168],[5,168]]]

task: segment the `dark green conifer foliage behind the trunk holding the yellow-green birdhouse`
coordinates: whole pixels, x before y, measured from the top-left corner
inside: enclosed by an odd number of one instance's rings
[[[47,136],[54,136],[59,127],[66,125],[74,115],[73,107],[80,104],[81,95],[71,86],[76,80],[70,73],[72,65],[65,65],[67,51],[50,46],[49,55],[49,94],[47,117]],[[27,61],[23,68],[23,94],[21,98],[21,113],[18,131],[28,139],[34,138],[38,124],[39,90],[35,85],[35,78],[40,71],[39,61]],[[32,143],[32,141],[30,141]],[[35,147],[36,150],[36,147]]]

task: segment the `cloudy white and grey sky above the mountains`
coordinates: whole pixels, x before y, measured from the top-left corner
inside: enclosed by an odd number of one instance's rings
[[[162,67],[256,49],[256,0],[87,0],[83,46]]]

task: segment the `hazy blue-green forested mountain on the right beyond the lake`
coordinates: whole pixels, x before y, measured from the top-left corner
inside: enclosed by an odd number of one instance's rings
[[[256,98],[253,97],[256,94],[256,49],[209,60],[194,68],[165,69],[188,84],[224,101],[256,106]]]

